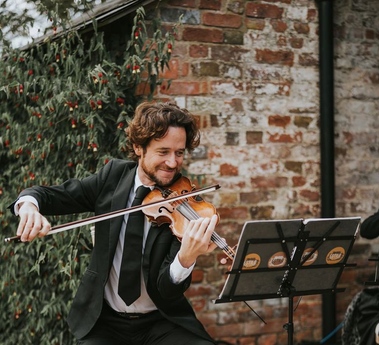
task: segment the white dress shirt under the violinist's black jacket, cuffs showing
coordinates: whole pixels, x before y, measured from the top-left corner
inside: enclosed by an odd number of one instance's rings
[[[140,169],[140,167],[138,167],[138,169]],[[134,179],[134,187],[130,191],[126,207],[131,207],[132,202],[134,200],[134,197],[136,195],[136,190],[141,185],[143,185],[143,183],[141,182],[141,180],[138,176],[138,172],[137,172],[136,177]],[[153,187],[149,187],[149,186],[145,186],[145,187],[148,187],[151,189],[153,188]],[[16,204],[14,206],[14,213],[16,215],[18,215],[18,210],[19,210],[18,205],[20,203],[25,202],[25,201],[30,201],[31,203],[36,205],[36,207],[38,208],[38,211],[39,211],[38,202],[34,197],[23,196],[16,202]],[[117,293],[118,277],[119,277],[119,272],[120,272],[120,267],[121,267],[122,250],[123,250],[123,245],[124,245],[125,228],[126,228],[126,222],[128,220],[128,217],[129,217],[129,214],[125,214],[124,219],[122,221],[121,231],[120,231],[120,235],[118,237],[116,251],[114,253],[114,259],[113,259],[113,263],[112,263],[112,267],[111,267],[111,272],[109,274],[108,281],[107,281],[107,284],[105,285],[105,289],[104,289],[104,299],[107,301],[107,303],[115,311],[146,313],[149,311],[156,310],[156,307],[155,307],[154,303],[152,302],[152,300],[150,299],[150,297],[146,291],[145,281],[144,281],[143,272],[142,272],[142,265],[141,265],[141,295],[140,295],[140,297],[136,301],[134,301],[134,303],[132,303],[130,306],[127,306],[125,304],[125,302],[121,299],[121,297]],[[146,243],[146,239],[148,237],[149,228],[150,228],[150,222],[149,222],[148,218],[145,217],[144,236],[143,236],[143,243],[142,243],[142,254],[143,254],[144,249],[145,249],[145,243]],[[178,258],[178,254],[177,254],[174,261],[170,265],[171,281],[175,284],[181,283],[192,272],[194,265],[195,264],[193,264],[188,269],[183,267],[181,265],[181,263],[179,262],[179,258]]]

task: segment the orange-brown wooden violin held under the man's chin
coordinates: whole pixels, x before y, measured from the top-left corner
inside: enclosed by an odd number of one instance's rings
[[[161,201],[162,198],[167,199],[177,197],[189,193],[194,189],[195,186],[191,183],[189,178],[181,176],[168,187],[155,186],[155,188],[145,197],[142,205],[152,205],[156,201]],[[164,205],[153,205],[144,208],[142,211],[150,221],[155,222],[158,225],[169,223],[171,232],[179,241],[183,238],[184,232],[191,220],[196,220],[201,217],[211,218],[214,214],[217,214],[217,224],[220,222],[216,207],[198,196],[189,196],[180,200],[168,201],[167,204]],[[234,259],[234,250],[215,231],[212,233],[211,241],[216,243],[230,260]]]

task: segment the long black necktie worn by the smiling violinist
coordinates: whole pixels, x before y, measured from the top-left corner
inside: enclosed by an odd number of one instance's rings
[[[142,204],[151,192],[150,188],[137,188],[132,207]],[[124,248],[122,251],[118,295],[130,306],[141,295],[142,240],[144,236],[145,214],[142,211],[129,213],[126,222]]]

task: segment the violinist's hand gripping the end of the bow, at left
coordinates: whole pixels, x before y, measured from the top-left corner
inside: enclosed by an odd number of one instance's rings
[[[37,235],[43,237],[51,230],[47,219],[38,212],[37,206],[29,201],[20,204],[18,215],[20,222],[17,236],[21,236],[21,242],[32,241]]]

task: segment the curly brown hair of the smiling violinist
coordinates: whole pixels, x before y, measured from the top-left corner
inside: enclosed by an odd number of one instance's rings
[[[143,102],[137,106],[126,134],[126,148],[130,159],[138,161],[133,144],[146,152],[152,138],[162,138],[169,127],[183,127],[186,131],[186,149],[191,152],[200,143],[196,118],[184,108],[172,103]]]

